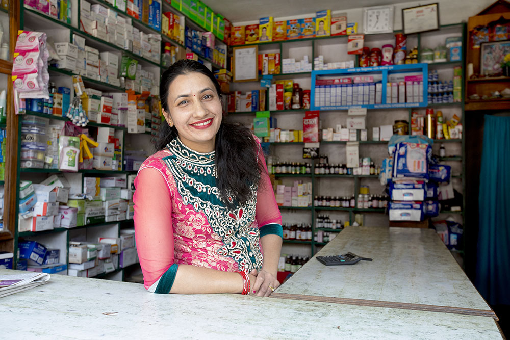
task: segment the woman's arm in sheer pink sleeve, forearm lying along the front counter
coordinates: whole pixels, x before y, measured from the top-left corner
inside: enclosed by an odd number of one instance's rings
[[[149,292],[242,292],[243,278],[239,273],[175,263],[171,191],[160,170],[151,167],[140,170],[135,187],[136,246],[144,286]],[[253,275],[249,277],[253,285],[256,278]]]

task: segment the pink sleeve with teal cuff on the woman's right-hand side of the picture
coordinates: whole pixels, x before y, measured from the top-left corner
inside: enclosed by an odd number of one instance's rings
[[[259,161],[263,165],[263,171],[259,182],[259,189],[257,191],[257,206],[255,218],[260,228],[260,236],[266,234],[277,234],[283,237],[282,233],[282,215],[276,198],[274,197],[273,186],[271,179],[267,172],[266,160],[262,149],[259,149]]]

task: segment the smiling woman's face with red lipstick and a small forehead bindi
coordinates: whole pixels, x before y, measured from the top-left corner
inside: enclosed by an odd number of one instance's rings
[[[209,77],[198,72],[175,77],[168,88],[167,104],[169,112],[163,110],[163,115],[173,123],[184,145],[198,152],[213,151],[222,108]]]

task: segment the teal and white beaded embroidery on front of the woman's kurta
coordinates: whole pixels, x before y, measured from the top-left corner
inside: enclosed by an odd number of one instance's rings
[[[252,186],[251,199],[231,211],[221,201],[215,185],[215,152],[195,152],[183,145],[179,138],[171,141],[167,147],[171,154],[162,161],[170,169],[177,191],[182,197],[185,214],[179,214],[179,219],[187,220],[186,224],[195,229],[195,237],[203,242],[207,241],[206,236],[210,234],[208,229],[212,229],[222,240],[216,254],[235,260],[239,270],[260,270],[262,253],[259,229],[255,221],[257,188]],[[192,210],[188,208],[189,205],[193,207]],[[196,260],[200,261],[193,259]]]

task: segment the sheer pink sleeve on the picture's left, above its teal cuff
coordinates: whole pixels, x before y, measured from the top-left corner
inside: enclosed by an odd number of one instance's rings
[[[152,167],[138,172],[135,188],[136,247],[144,286],[149,289],[174,264],[171,191],[163,174]]]

